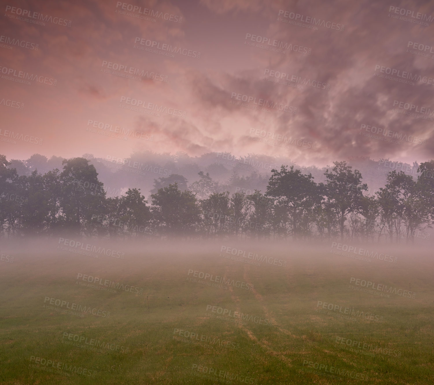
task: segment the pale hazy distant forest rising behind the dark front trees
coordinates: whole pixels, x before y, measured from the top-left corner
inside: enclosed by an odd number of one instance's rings
[[[156,192],[155,188],[168,183],[177,182],[181,190],[191,189],[191,184],[200,179],[200,171],[209,173],[210,177],[218,182],[217,192],[244,191],[251,194],[255,189],[264,192],[271,176],[271,169],[279,169],[281,165],[292,165],[303,174],[312,174],[317,183],[325,182],[326,170],[326,167],[319,168],[314,165],[301,166],[281,156],[249,154],[243,157],[227,152],[212,152],[199,157],[191,157],[183,152],[157,154],[152,151],[135,152],[129,158],[119,158],[115,155],[95,158],[92,154],[84,154],[82,157],[95,166],[99,180],[104,183],[107,196],[121,195],[128,188],[140,188],[148,201],[151,201],[150,194]],[[47,159],[43,155],[34,154],[27,160],[10,159],[9,168],[16,168],[19,175],[30,176],[35,169],[45,174],[55,168],[62,170],[63,160],[60,156]],[[368,184],[368,192],[371,194],[385,186],[389,171],[403,170],[413,177],[418,175],[417,162],[409,165],[389,159],[375,161],[368,157],[351,157],[347,162],[362,172],[363,181]],[[158,184],[155,184],[155,180],[158,180]]]

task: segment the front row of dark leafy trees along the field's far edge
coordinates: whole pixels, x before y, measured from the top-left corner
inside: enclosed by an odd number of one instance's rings
[[[263,194],[219,192],[208,174],[190,186],[155,180],[151,205],[140,189],[107,197],[85,158],[54,169],[19,175],[0,155],[0,232],[26,235],[309,240],[414,240],[434,223],[434,160],[419,166],[417,180],[391,171],[375,194],[345,161],[326,169],[325,183],[282,165]],[[180,177],[178,175],[178,177]],[[173,176],[171,177],[173,178]],[[182,177],[181,177],[182,178]],[[214,191],[213,191],[214,189]],[[421,233],[422,232],[422,233]],[[426,238],[426,236],[425,236]]]

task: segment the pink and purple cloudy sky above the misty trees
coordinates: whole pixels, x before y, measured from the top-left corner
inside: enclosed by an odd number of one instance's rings
[[[6,1],[0,154],[434,158],[434,2]]]

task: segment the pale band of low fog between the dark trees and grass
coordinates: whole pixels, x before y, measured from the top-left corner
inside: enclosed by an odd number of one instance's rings
[[[74,235],[62,237],[29,237],[22,239],[3,239],[0,244],[0,254],[17,256],[20,254],[34,255],[73,255],[89,258],[112,257],[118,260],[128,260],[151,254],[172,254],[182,257],[189,254],[216,255],[220,253],[234,257],[249,258],[252,254],[282,254],[290,257],[295,254],[312,254],[317,257],[335,254],[352,259],[375,258],[396,263],[391,257],[404,254],[414,257],[418,253],[426,254],[432,250],[430,240],[415,240],[413,243],[399,244],[369,242],[361,243],[352,240],[185,240],[149,237],[148,239],[107,239],[80,238]],[[384,254],[384,255],[381,255]]]

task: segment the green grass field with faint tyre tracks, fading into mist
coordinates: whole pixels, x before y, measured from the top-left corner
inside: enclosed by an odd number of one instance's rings
[[[143,246],[123,260],[54,245],[10,250],[13,263],[0,261],[0,383],[434,383],[432,252],[401,249],[388,263],[329,246],[240,247],[283,267],[224,258],[221,245]],[[194,271],[234,283],[194,282]],[[89,276],[118,290],[84,286]],[[415,298],[361,292],[351,278],[398,290],[411,283]],[[363,315],[343,318],[345,308]]]

